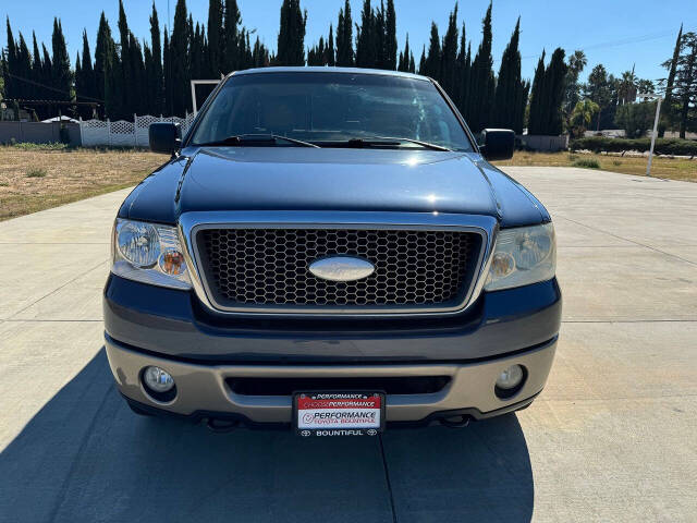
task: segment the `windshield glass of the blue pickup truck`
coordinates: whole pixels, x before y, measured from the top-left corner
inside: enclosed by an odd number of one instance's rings
[[[285,136],[323,147],[390,137],[390,147],[421,147],[407,142],[412,139],[473,150],[457,118],[430,82],[378,74],[232,76],[206,110],[191,145],[243,135]],[[278,145],[293,144],[279,141]]]

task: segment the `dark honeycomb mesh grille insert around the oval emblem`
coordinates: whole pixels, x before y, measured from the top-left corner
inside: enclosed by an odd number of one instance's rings
[[[403,307],[460,304],[470,284],[480,235],[462,231],[203,229],[203,276],[222,307]],[[372,263],[350,282],[316,278],[308,266],[350,255]]]

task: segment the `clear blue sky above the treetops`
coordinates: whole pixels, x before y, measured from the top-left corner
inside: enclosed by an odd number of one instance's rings
[[[372,0],[372,3],[378,1]],[[169,3],[168,26],[171,26],[176,0],[155,0],[155,3],[161,24],[168,20]],[[237,3],[243,24],[256,29],[261,40],[274,49],[282,0],[237,0]],[[320,35],[329,33],[330,23],[335,27],[343,3],[343,0],[301,1],[308,13],[306,47],[315,44]],[[408,33],[409,46],[418,64],[421,47],[428,42],[430,22],[437,23],[442,37],[455,2],[394,0],[394,3],[400,49]],[[186,4],[195,21],[207,22],[208,0],[187,0]],[[481,19],[488,4],[489,0],[460,1],[458,24],[462,25],[463,21],[466,24],[473,53],[481,38]],[[359,22],[362,5],[363,0],[351,0],[354,22]],[[131,31],[140,39],[149,37],[151,0],[124,0],[124,9]],[[10,17],[15,38],[21,31],[29,46],[32,31],[35,31],[39,45],[44,40],[50,49],[52,21],[54,16],[60,17],[72,62],[82,49],[84,28],[94,52],[102,10],[114,36],[118,35],[118,0],[0,0],[0,15]],[[523,76],[527,78],[533,77],[542,49],[547,49],[549,58],[557,47],[567,52],[575,49],[586,52],[588,65],[582,80],[598,63],[615,75],[635,66],[640,78],[661,78],[665,72],[660,64],[672,56],[681,23],[685,24],[685,31],[697,32],[697,0],[494,0],[492,13],[494,71],[498,72],[501,53],[521,16]],[[1,29],[0,45],[5,44],[5,33]]]

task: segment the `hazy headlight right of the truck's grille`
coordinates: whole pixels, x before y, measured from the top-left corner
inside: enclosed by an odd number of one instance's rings
[[[557,271],[557,240],[551,223],[503,229],[497,236],[487,291],[550,280]]]

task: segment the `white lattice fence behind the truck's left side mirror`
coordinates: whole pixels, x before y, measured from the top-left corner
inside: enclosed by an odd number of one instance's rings
[[[155,122],[179,122],[182,125],[182,136],[186,134],[194,121],[195,114],[186,113],[180,117],[152,117],[146,114],[133,115],[133,122],[117,120],[82,120],[80,121],[80,134],[83,146],[109,145],[117,147],[147,147],[148,129]]]

